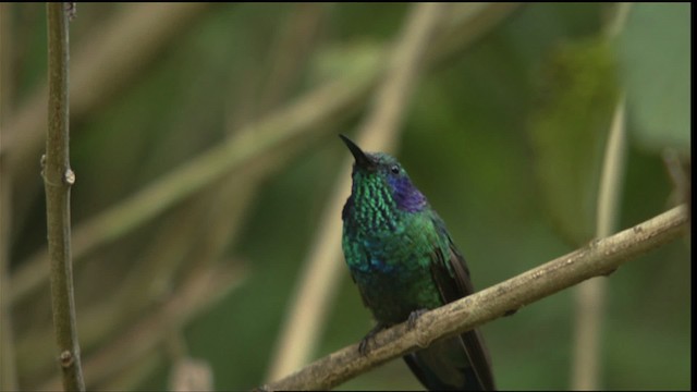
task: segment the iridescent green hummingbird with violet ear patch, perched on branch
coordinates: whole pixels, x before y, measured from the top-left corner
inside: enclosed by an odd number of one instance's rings
[[[359,344],[390,326],[474,293],[465,258],[445,223],[398,160],[364,152],[339,135],[354,157],[342,248],[351,277],[377,324]],[[428,390],[494,390],[488,350],[479,331],[437,341],[404,360]]]

